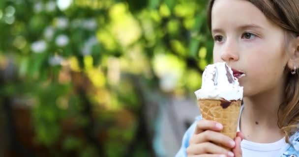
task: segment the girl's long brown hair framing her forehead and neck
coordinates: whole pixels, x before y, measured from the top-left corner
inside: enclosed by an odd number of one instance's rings
[[[211,11],[215,0],[209,1],[208,26],[211,30]],[[289,37],[299,35],[299,1],[298,0],[248,0],[260,9],[274,24],[282,27]],[[288,71],[285,88],[285,100],[279,106],[278,127],[285,133],[286,142],[299,124],[299,71],[295,75]]]

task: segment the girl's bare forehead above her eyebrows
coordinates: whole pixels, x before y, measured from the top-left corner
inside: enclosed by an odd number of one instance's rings
[[[215,0],[211,12],[213,27],[236,25],[272,26],[264,13],[248,0]]]

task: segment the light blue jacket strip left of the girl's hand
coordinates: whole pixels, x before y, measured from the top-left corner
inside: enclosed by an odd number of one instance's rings
[[[181,147],[180,147],[179,152],[177,153],[176,157],[187,157],[186,150],[189,146],[189,140],[192,137],[192,135],[196,129],[197,121],[201,120],[201,119],[202,119],[201,116],[197,116],[195,118],[195,121],[193,122],[193,124],[184,133],[184,136],[183,136],[182,142],[181,142]]]

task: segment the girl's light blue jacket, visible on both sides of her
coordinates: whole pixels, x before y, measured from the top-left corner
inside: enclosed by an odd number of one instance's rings
[[[196,117],[196,121],[189,127],[189,129],[185,132],[181,147],[179,152],[177,153],[176,157],[187,157],[187,148],[189,146],[189,140],[192,137],[195,129],[196,129],[196,122],[201,120],[202,117]],[[283,148],[285,151],[280,157],[299,157],[299,132],[297,131],[290,137],[290,143]]]

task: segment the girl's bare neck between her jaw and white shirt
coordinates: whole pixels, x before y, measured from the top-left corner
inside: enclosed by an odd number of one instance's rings
[[[244,97],[240,128],[245,138],[255,142],[269,143],[284,136],[277,125],[277,113],[283,101],[283,91],[283,88],[277,87],[263,94]]]

